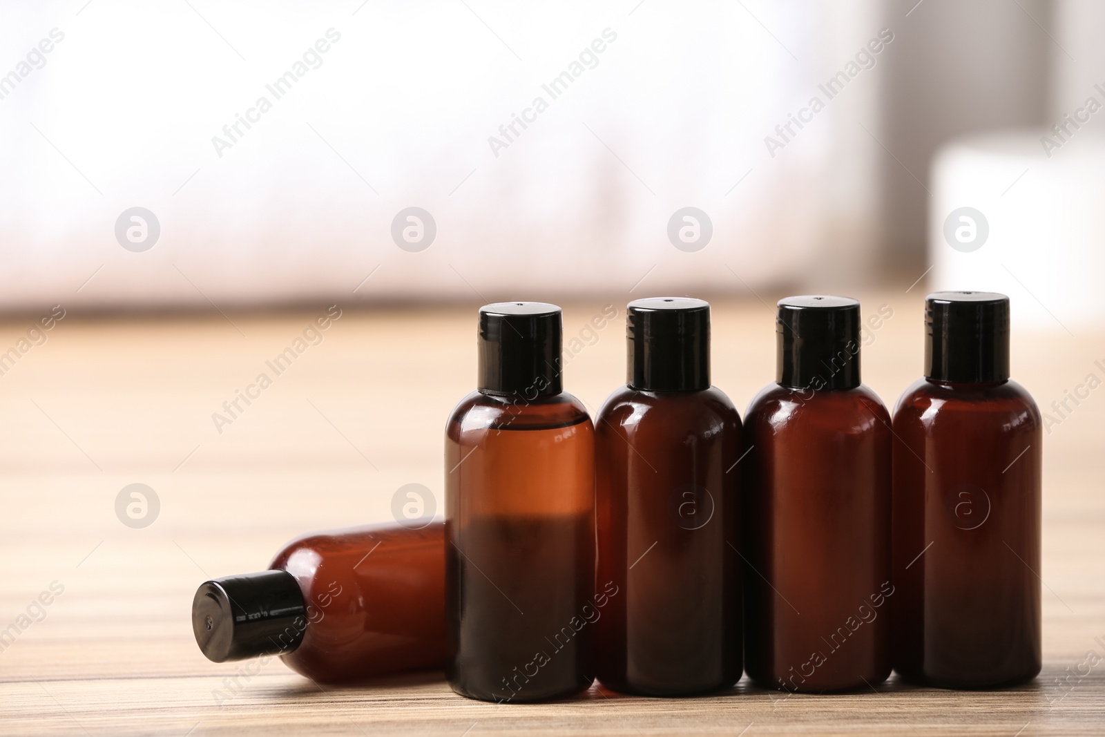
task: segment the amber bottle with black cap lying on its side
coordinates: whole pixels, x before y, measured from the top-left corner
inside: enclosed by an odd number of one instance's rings
[[[210,660],[280,655],[322,683],[441,667],[444,525],[305,535],[270,570],[200,586],[192,631]]]

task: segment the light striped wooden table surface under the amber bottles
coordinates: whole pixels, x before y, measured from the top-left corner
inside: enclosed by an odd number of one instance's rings
[[[865,315],[894,312],[863,350],[864,381],[891,406],[920,372],[920,288],[860,295]],[[566,385],[592,412],[624,378],[623,305],[593,333],[602,303],[565,312]],[[1085,664],[1087,651],[1105,659],[1103,389],[1045,436],[1044,671],[1028,686],[892,678],[877,692],[787,697],[745,680],[706,698],[594,687],[496,706],[453,695],[440,673],[323,689],[275,660],[208,662],[189,619],[204,579],[263,569],[301,533],[390,519],[407,483],[431,488],[440,514],[442,430],[473,386],[477,306],[345,308],[320,341],[308,328],[325,307],[66,314],[44,341],[32,333],[38,344],[19,340],[39,315],[0,323],[0,352],[29,346],[0,376],[0,630],[15,625],[0,642],[0,734],[1105,734],[1105,660]],[[265,361],[304,330],[317,345],[275,375]],[[1042,409],[1088,373],[1105,378],[1094,364],[1105,366],[1105,326],[1075,335],[1014,336],[1014,377]],[[713,365],[741,411],[772,380],[764,303],[715,304]],[[262,372],[272,386],[217,427],[212,413]],[[160,503],[145,528],[116,516],[133,483]],[[51,603],[34,604],[43,592]]]

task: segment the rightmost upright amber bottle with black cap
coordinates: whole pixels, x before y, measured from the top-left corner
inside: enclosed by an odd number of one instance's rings
[[[925,378],[894,433],[894,670],[950,688],[1032,678],[1043,434],[1009,379],[1009,297],[928,295]]]

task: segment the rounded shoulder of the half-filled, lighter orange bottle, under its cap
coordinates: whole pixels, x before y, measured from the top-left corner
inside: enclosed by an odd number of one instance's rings
[[[453,408],[445,433],[455,439],[470,431],[552,430],[577,424],[590,428],[591,418],[583,403],[568,392],[527,400],[476,390]]]

